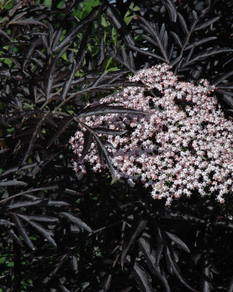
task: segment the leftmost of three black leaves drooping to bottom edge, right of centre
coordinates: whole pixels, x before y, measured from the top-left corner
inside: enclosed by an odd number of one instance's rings
[[[153,288],[151,287],[150,284],[151,282],[150,275],[136,260],[132,259],[132,257],[127,256],[126,260],[128,260],[130,266],[132,267],[132,270],[130,272],[135,277],[140,292],[153,292]]]

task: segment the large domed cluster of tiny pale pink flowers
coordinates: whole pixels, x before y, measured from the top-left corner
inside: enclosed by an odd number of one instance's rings
[[[93,103],[109,102],[144,114],[107,114],[82,121],[93,128],[128,130],[105,138],[113,146],[106,145],[117,178],[131,187],[141,180],[155,199],[166,198],[166,205],[172,198],[189,197],[193,190],[201,196],[214,192],[223,203],[233,182],[233,124],[216,109],[210,96],[214,87],[207,80],[199,86],[179,82],[169,69],[163,64],[140,70],[130,81],[142,81],[148,88],[127,87]],[[80,127],[70,139],[78,157],[74,169],[85,173],[89,162],[101,172],[107,164],[100,163],[94,141],[80,161],[84,133]]]

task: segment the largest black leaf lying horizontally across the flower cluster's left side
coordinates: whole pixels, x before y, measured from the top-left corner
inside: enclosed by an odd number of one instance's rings
[[[80,114],[77,115],[77,118],[82,117],[89,117],[89,116],[100,116],[103,114],[143,114],[146,115],[147,113],[135,110],[135,109],[129,109],[126,107],[123,107],[121,105],[110,105],[109,103],[102,103],[99,105],[91,106],[88,105],[85,107],[85,109],[80,112]]]

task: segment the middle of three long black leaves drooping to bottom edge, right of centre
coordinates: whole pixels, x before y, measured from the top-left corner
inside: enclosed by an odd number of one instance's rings
[[[142,251],[146,262],[151,270],[151,272],[156,275],[162,282],[166,292],[170,292],[170,287],[167,282],[166,274],[163,270],[161,263],[156,266],[156,251],[153,249],[150,241],[144,236],[139,239],[140,250]]]

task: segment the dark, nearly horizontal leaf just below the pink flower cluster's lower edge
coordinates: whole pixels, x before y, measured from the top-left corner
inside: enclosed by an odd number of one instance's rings
[[[156,211],[155,215],[160,216],[162,218],[185,220],[185,221],[191,221],[193,223],[206,224],[205,220],[194,217],[193,215],[190,215],[190,214],[185,213],[185,212],[173,210],[172,208],[164,208],[164,209],[161,209],[159,211]]]

